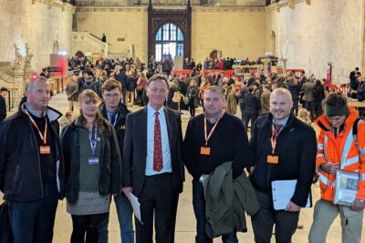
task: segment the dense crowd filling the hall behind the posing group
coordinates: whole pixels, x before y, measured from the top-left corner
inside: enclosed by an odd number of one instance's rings
[[[123,103],[126,106],[145,106],[148,103],[145,92],[147,80],[153,74],[165,74],[169,80],[166,105],[179,111],[189,110],[191,116],[195,116],[195,109],[198,106],[203,107],[204,91],[209,86],[220,86],[224,89],[226,112],[235,115],[238,106],[246,128],[249,124],[254,124],[258,116],[269,112],[269,97],[277,87],[285,87],[291,93],[293,112],[296,116],[300,106],[308,110],[312,122],[323,113],[321,103],[329,92],[325,78],[320,80],[314,75],[307,77],[305,71],[300,74],[287,72],[270,76],[252,73],[249,78],[236,74],[224,76],[224,70],[232,69],[236,63],[235,58],[207,57],[202,65],[195,64],[193,58],[185,58],[183,67],[191,69],[192,73],[172,75],[171,58],[163,62],[156,62],[151,58],[145,66],[138,57],[136,60],[100,58],[94,64],[85,56],[72,57],[68,60],[68,66],[69,70],[73,71],[73,81],[68,84],[66,92],[68,99],[73,101],[77,101],[77,94],[85,89],[92,89],[101,97],[101,85],[111,78],[120,82]],[[238,64],[252,65],[253,63],[260,63],[260,58],[255,62],[246,58],[240,60]],[[205,70],[204,72],[202,69],[214,69],[214,71],[206,72]],[[77,86],[78,91],[75,91]],[[72,109],[70,105],[69,110]]]

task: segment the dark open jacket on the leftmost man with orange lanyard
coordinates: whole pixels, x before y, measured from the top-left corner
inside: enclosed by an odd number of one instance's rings
[[[23,103],[13,116],[8,117],[0,128],[0,189],[9,201],[32,201],[44,197],[40,174],[39,147],[32,123],[24,113]],[[62,116],[47,107],[47,118],[53,137],[57,137],[56,161],[59,198],[65,197],[65,171],[59,142],[59,124]]]

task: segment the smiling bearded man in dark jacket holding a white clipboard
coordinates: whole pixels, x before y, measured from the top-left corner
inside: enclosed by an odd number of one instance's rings
[[[291,242],[300,208],[306,207],[315,172],[317,141],[312,127],[291,113],[290,92],[276,88],[270,96],[270,114],[255,123],[250,147],[254,153],[251,182],[260,210],[252,217],[255,242],[269,243],[274,224],[276,242]],[[272,182],[297,180],[285,209],[273,208]]]

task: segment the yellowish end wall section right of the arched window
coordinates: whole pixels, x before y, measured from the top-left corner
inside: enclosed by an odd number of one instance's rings
[[[222,57],[255,60],[265,52],[265,33],[264,8],[193,8],[192,57],[203,62],[217,50]]]

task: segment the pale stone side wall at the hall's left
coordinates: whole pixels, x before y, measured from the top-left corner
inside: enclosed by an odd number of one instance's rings
[[[31,64],[36,71],[49,65],[49,54],[57,41],[59,49],[71,50],[72,6],[60,0],[0,0],[0,60],[13,62],[14,44],[26,55],[25,43],[33,53]]]

